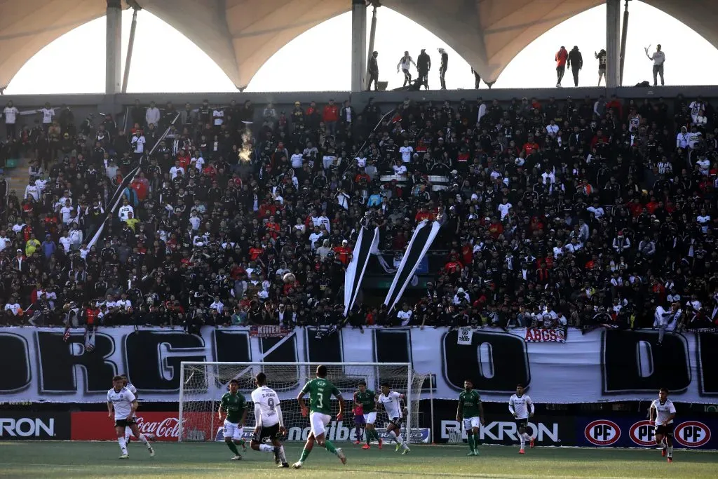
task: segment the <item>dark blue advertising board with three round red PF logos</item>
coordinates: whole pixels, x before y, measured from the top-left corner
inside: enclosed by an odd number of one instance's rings
[[[683,417],[673,421],[673,447],[718,449],[718,420]],[[644,417],[584,417],[576,419],[578,446],[657,447],[653,424]]]

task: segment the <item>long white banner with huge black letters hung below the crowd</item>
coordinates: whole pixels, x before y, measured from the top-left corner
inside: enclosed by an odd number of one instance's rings
[[[98,330],[89,352],[81,329],[65,342],[61,328],[2,327],[0,400],[101,403],[112,376],[127,373],[143,401],[177,401],[182,361],[309,361],[412,363],[432,373],[437,399],[457,399],[470,378],[484,401],[508,401],[517,383],[538,403],[646,401],[661,387],[671,390],[673,401],[718,401],[718,374],[712,373],[718,335],[670,334],[659,348],[653,330],[547,331],[480,329],[460,338],[445,327],[345,328],[330,335],[307,327],[261,338],[248,327],[202,327],[200,335],[108,327]],[[218,391],[224,389],[208,388],[205,399],[218,399]],[[193,395],[201,398],[202,391]],[[429,381],[422,392],[428,397]]]

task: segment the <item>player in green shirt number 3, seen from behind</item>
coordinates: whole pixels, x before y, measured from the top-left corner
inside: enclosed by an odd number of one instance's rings
[[[325,447],[327,451],[337,455],[342,464],[346,464],[347,457],[344,452],[325,438],[327,425],[332,420],[332,394],[339,401],[337,421],[341,421],[344,416],[344,398],[342,398],[339,389],[327,381],[327,366],[317,366],[317,377],[305,384],[302,392],[297,396],[299,407],[302,409],[302,416],[307,415],[307,405],[304,404],[304,394],[307,393],[309,393],[309,424],[312,425],[312,432],[307,437],[307,444],[304,445],[302,457],[299,457],[299,460],[294,462],[292,468],[299,469],[302,467],[304,461],[307,460],[307,456],[309,456],[309,452],[312,452],[315,441],[321,447]]]

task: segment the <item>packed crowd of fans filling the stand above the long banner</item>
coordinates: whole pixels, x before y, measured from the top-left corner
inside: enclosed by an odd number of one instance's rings
[[[127,131],[50,105],[16,129],[8,108],[4,156],[32,158],[24,190],[0,177],[9,325],[650,327],[672,302],[686,327],[717,317],[718,118],[701,98],[137,102]],[[391,254],[423,219],[445,261],[414,307],[345,318],[358,225]]]

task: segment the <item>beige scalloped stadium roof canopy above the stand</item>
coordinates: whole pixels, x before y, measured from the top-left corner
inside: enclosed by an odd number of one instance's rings
[[[717,0],[643,0],[718,47]],[[138,0],[204,50],[237,86],[308,29],[350,11],[350,0]],[[544,32],[605,0],[381,0],[495,80]],[[122,0],[127,8],[126,0]],[[102,17],[106,0],[0,0],[0,86],[42,47]]]

